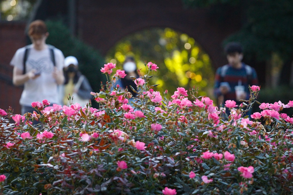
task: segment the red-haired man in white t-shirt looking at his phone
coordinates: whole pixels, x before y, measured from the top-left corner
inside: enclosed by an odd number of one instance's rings
[[[21,94],[21,114],[33,112],[31,103],[47,99],[51,104],[60,104],[58,85],[64,83],[62,51],[46,44],[49,36],[42,20],[29,26],[28,36],[32,44],[16,51],[10,62],[13,68],[13,84],[24,85]]]

